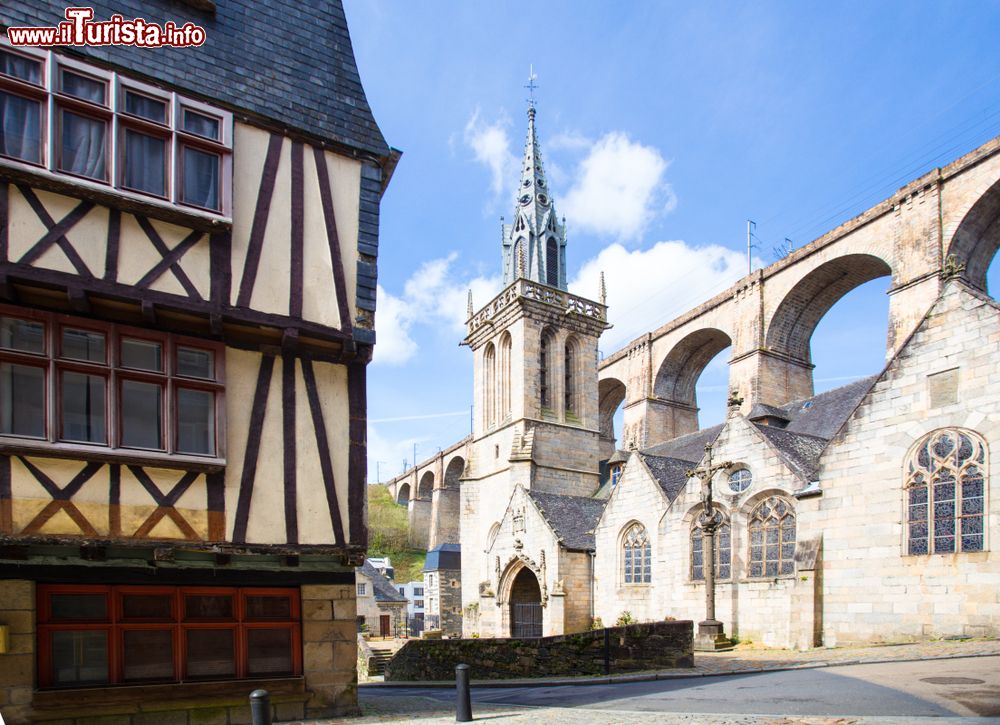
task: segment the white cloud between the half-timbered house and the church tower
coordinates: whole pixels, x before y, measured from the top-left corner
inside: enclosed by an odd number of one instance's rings
[[[375,313],[376,341],[373,363],[400,365],[417,354],[416,326],[440,328],[442,323],[456,334],[465,329],[468,291],[476,309],[500,291],[500,277],[462,279],[452,272],[458,253],[420,265],[403,284],[402,296],[378,286]]]

